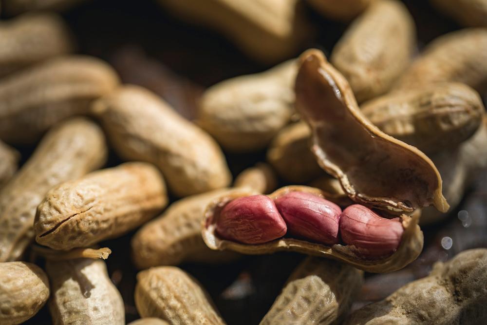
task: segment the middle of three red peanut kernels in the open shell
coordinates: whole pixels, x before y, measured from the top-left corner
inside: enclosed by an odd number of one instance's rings
[[[275,201],[290,235],[327,245],[337,244],[341,209],[307,192],[293,191]]]

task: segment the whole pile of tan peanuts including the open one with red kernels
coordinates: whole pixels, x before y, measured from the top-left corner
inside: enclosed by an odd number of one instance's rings
[[[227,324],[187,263],[279,251],[302,260],[261,325],[487,323],[482,247],[354,304],[487,169],[487,0],[430,0],[461,28],[419,53],[400,0],[154,0],[271,67],[206,89],[194,120],[75,54],[83,2],[1,1],[0,325]],[[345,27],[329,58],[313,19]]]

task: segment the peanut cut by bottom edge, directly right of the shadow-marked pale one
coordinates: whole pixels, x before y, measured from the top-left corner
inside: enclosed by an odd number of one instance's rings
[[[142,317],[159,317],[170,324],[222,325],[205,289],[176,267],[158,267],[137,274],[135,306]]]

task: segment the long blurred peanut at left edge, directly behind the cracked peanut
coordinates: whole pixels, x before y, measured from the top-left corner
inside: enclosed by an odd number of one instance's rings
[[[0,261],[13,261],[34,239],[37,205],[53,186],[101,167],[107,157],[100,128],[84,118],[44,136],[36,151],[0,191]]]

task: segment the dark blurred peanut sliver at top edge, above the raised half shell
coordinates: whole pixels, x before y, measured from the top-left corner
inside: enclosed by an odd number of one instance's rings
[[[375,0],[307,0],[321,15],[334,20],[349,21],[361,14]]]

